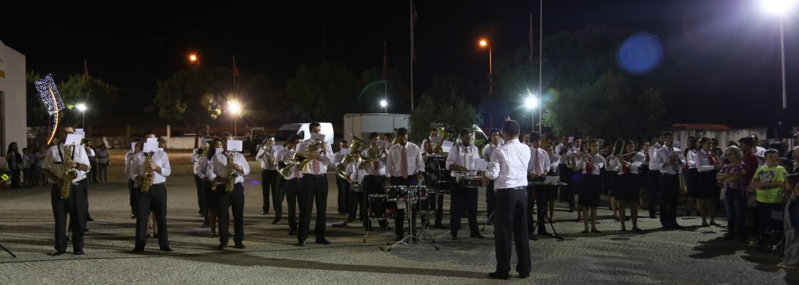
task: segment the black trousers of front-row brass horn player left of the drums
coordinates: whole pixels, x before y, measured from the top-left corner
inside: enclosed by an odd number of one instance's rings
[[[300,229],[297,232],[297,240],[301,242],[308,239],[314,200],[316,200],[316,224],[313,234],[316,240],[324,239],[326,228],[324,223],[328,215],[328,175],[303,174],[297,198],[300,200]]]

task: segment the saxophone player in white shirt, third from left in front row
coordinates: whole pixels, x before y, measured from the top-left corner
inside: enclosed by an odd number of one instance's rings
[[[233,135],[223,133],[220,138],[225,141],[225,151],[219,152],[211,161],[205,173],[208,179],[214,183],[214,191],[217,197],[217,217],[219,219],[219,246],[217,249],[228,247],[230,216],[228,208],[233,208],[233,242],[236,248],[244,248],[244,176],[250,172],[249,164],[241,152],[229,150],[229,141],[233,141]],[[228,161],[233,159],[233,164]],[[229,175],[233,172],[235,178]],[[229,179],[233,178],[233,181]],[[227,192],[229,182],[233,182],[233,189]]]

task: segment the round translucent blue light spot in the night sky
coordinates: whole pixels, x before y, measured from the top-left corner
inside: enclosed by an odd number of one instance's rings
[[[660,64],[663,48],[658,36],[649,33],[633,34],[622,42],[616,52],[618,65],[629,73],[648,73]]]

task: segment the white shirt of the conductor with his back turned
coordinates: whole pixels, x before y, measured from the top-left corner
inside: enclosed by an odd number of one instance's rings
[[[519,139],[506,141],[491,153],[486,177],[494,180],[494,191],[527,186],[527,165],[530,164],[530,147]]]

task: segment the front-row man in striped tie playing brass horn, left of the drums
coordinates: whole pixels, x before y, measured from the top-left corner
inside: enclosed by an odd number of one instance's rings
[[[322,126],[317,122],[309,125],[311,134],[319,134]],[[310,148],[310,149],[309,149]],[[311,152],[308,152],[310,150]],[[328,208],[328,164],[333,162],[333,149],[330,144],[314,139],[303,141],[296,146],[297,155],[310,160],[302,169],[303,178],[300,181],[300,191],[297,198],[300,203],[300,229],[297,232],[297,245],[304,246],[308,238],[308,228],[311,224],[311,212],[316,200],[316,226],[314,235],[316,243],[330,244],[324,239],[325,223]]]

